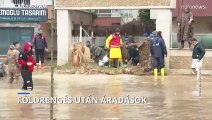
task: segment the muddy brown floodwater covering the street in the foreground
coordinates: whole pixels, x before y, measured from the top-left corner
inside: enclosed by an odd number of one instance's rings
[[[50,96],[50,73],[33,75],[34,91]],[[197,96],[195,76],[55,75],[55,96],[147,97],[144,104],[55,104],[56,120],[212,120],[212,78],[202,77]],[[0,78],[0,120],[48,120],[49,104],[18,104],[22,79]]]

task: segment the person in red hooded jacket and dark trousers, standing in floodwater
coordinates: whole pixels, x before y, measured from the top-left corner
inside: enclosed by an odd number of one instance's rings
[[[32,72],[36,62],[33,57],[32,45],[30,42],[24,43],[24,52],[20,53],[18,63],[20,64],[21,76],[24,80],[22,89],[32,91]]]

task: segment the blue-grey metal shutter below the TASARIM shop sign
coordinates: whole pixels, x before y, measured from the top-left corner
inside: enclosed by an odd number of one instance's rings
[[[32,42],[33,27],[1,27],[0,28],[0,55],[6,55],[9,45],[19,41],[21,50],[26,41]]]

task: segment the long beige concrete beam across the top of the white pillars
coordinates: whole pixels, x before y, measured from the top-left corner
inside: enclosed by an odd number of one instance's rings
[[[171,6],[173,0],[56,0],[56,8],[62,7],[141,7],[141,6]]]

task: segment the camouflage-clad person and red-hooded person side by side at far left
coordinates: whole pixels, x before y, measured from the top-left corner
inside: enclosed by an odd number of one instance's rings
[[[36,62],[34,60],[32,45],[30,42],[24,43],[23,52],[20,52],[20,43],[14,42],[7,52],[5,64],[8,65],[9,83],[17,83],[21,74],[23,78],[24,90],[32,90],[32,72]]]

